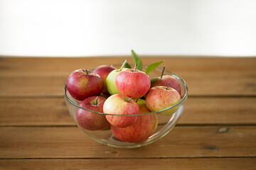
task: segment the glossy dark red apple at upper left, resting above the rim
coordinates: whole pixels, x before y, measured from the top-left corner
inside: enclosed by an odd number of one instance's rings
[[[103,80],[100,75],[87,69],[77,69],[69,75],[67,88],[73,98],[82,101],[89,96],[100,95]]]

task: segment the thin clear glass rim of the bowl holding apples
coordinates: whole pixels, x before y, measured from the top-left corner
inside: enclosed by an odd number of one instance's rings
[[[160,69],[161,67],[157,67],[156,69]],[[162,70],[162,68],[161,68]],[[174,108],[178,105],[180,105],[181,103],[183,103],[183,101],[185,101],[185,99],[188,97],[188,86],[186,84],[186,81],[184,81],[181,77],[178,77],[176,74],[174,74],[173,72],[170,72],[168,70],[165,69],[164,72],[168,72],[169,74],[171,74],[172,76],[176,77],[176,79],[178,79],[179,81],[181,81],[181,83],[183,84],[183,86],[185,87],[185,94],[183,96],[183,98],[181,98],[181,101],[178,101],[178,103],[176,103],[175,105],[173,106],[170,106],[169,108],[164,108],[162,109],[161,111],[155,111],[155,112],[150,112],[150,113],[143,113],[143,114],[139,114],[139,115],[149,115],[149,114],[154,114],[154,113],[161,113],[162,111],[166,111],[168,109],[171,109],[171,108]],[[101,112],[97,112],[97,111],[91,111],[87,108],[82,108],[81,106],[79,106],[77,103],[75,103],[74,101],[72,101],[68,96],[67,96],[67,84],[65,84],[65,88],[64,88],[64,94],[65,94],[65,98],[75,107],[77,108],[81,108],[85,111],[90,111],[90,112],[93,112],[93,113],[98,113],[98,114],[102,114],[102,115],[115,115],[115,114],[109,114],[109,113],[101,113]],[[119,115],[119,116],[134,116],[134,115]]]

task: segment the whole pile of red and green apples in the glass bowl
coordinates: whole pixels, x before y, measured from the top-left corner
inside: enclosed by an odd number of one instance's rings
[[[101,65],[93,71],[77,69],[68,77],[67,89],[82,101],[76,113],[85,130],[111,129],[124,142],[142,142],[154,134],[158,125],[155,111],[174,106],[181,100],[181,86],[171,75],[150,79],[137,69]],[[161,112],[171,115],[178,108]],[[95,113],[95,112],[99,113]],[[102,114],[100,114],[102,113]],[[146,114],[150,113],[150,114]]]

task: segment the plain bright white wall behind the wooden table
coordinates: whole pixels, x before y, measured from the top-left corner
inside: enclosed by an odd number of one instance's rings
[[[0,55],[256,56],[255,0],[0,0]]]

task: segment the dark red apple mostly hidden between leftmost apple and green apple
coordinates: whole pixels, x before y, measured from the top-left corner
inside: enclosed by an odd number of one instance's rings
[[[93,72],[97,73],[100,75],[100,77],[103,79],[103,93],[108,93],[107,91],[107,84],[106,84],[106,79],[108,74],[114,70],[114,67],[108,66],[108,65],[101,65],[97,67]]]

